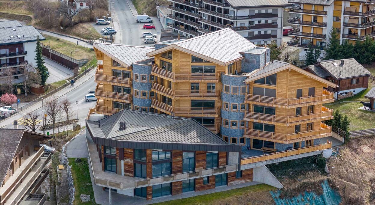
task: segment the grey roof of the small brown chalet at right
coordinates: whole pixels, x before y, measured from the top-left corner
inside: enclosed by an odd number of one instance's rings
[[[334,63],[338,66],[335,66]],[[320,67],[329,73],[330,76],[337,80],[371,75],[370,71],[363,67],[354,58],[344,59],[344,65],[341,64],[341,60],[324,61],[315,65],[320,65]]]

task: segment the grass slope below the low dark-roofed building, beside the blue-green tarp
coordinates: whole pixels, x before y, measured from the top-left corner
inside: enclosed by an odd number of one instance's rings
[[[154,205],[220,205],[220,204],[245,204],[244,202],[252,202],[255,200],[272,199],[269,191],[276,190],[275,187],[267,184],[257,184],[254,186],[242,187],[223,192],[215,192],[206,195],[193,196],[190,198],[177,199],[167,202],[160,202]],[[256,199],[254,198],[256,197]],[[257,197],[260,196],[260,197]],[[251,199],[254,199],[251,200]],[[263,202],[269,204],[270,202]],[[246,203],[247,204],[247,203]],[[258,203],[254,203],[258,204]]]

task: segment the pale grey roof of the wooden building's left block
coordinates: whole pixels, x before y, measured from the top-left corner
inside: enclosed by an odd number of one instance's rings
[[[133,62],[148,59],[147,53],[155,50],[155,48],[145,46],[128,46],[108,43],[94,43],[94,48],[108,52],[128,66],[132,65]]]

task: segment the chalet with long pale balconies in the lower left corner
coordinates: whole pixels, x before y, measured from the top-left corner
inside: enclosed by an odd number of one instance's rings
[[[44,153],[40,141],[48,135],[25,129],[0,129],[0,205],[43,204],[44,193],[35,193],[48,175],[50,154]]]

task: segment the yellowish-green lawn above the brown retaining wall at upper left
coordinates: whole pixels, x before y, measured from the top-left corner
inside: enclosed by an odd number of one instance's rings
[[[43,36],[46,38],[46,40],[41,41],[43,45],[51,46],[51,49],[72,56],[74,59],[84,59],[85,56],[88,59],[92,59],[95,56],[95,52],[90,50],[90,48],[85,48],[75,43],[45,34]]]

